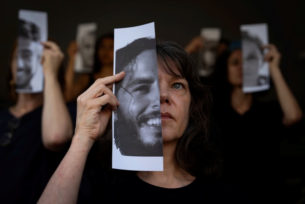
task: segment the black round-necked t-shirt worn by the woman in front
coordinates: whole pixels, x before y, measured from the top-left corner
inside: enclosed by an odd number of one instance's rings
[[[162,188],[142,181],[133,171],[92,170],[84,174],[77,203],[105,201],[251,203],[240,191],[230,186],[198,177],[181,188]]]

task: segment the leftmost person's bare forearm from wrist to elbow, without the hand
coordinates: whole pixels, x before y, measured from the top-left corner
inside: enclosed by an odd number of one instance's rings
[[[42,141],[47,149],[61,150],[73,134],[70,113],[56,76],[45,77]]]

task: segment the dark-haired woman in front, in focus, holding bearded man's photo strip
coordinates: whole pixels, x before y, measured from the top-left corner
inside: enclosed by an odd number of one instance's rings
[[[237,192],[216,180],[222,160],[209,136],[211,95],[199,81],[196,63],[173,42],[156,45],[156,52],[164,170],[95,170],[82,175],[91,146],[105,136],[112,111],[120,107],[111,89],[113,83],[126,77],[122,71],[95,81],[78,97],[72,144],[38,203],[99,203],[109,199],[242,203],[240,194],[237,197]]]

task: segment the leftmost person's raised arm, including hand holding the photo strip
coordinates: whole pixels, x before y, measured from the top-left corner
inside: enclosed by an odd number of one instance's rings
[[[70,113],[58,81],[58,70],[64,55],[52,41],[42,43],[42,65],[45,76],[42,108],[42,142],[52,151],[60,151],[73,136]]]

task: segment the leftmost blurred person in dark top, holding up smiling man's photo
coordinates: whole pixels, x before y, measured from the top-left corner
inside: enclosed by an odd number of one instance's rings
[[[59,74],[64,55],[54,41],[41,44],[43,92],[15,93],[17,41],[11,53],[8,78],[16,103],[0,112],[1,203],[36,203],[73,136],[76,110],[64,101]]]

